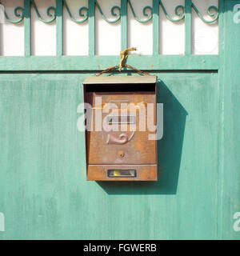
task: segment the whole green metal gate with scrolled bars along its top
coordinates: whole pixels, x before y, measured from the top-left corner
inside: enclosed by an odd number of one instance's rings
[[[161,0],[134,13],[130,0],[114,6],[108,20],[101,2],[89,0],[75,20],[65,0],[50,7],[56,20],[54,57],[31,56],[30,6],[16,7],[24,22],[25,56],[0,58],[1,239],[239,239],[240,212],[240,1],[219,1],[204,19],[191,0],[177,6],[178,19]],[[127,63],[157,74],[164,104],[158,182],[86,182],[84,134],[77,130],[82,82],[114,66],[118,56],[95,55],[95,10],[106,22],[121,22],[127,47],[127,6],[138,22],[152,20],[154,50]],[[186,54],[160,55],[159,7],[171,22],[185,20]],[[62,12],[89,22],[89,55],[64,56]],[[146,13],[146,10],[150,12]],[[54,14],[53,14],[54,12]],[[194,55],[191,16],[219,23],[219,54]],[[238,19],[239,17],[239,19]],[[6,18],[9,22],[6,14]],[[124,70],[121,75],[134,75]]]

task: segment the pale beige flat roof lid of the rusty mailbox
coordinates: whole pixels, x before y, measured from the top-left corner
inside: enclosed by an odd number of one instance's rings
[[[83,82],[84,85],[90,84],[140,84],[140,83],[156,83],[157,76],[146,75],[146,76],[102,76],[102,77],[89,77]]]

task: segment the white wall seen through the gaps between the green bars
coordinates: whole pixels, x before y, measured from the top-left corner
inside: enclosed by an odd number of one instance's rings
[[[152,6],[152,0],[131,0],[138,18],[146,19],[142,14],[144,6]],[[55,6],[55,0],[35,0],[38,11],[42,18],[49,20],[46,15],[48,6]],[[110,14],[112,6],[120,6],[120,0],[98,0],[106,18],[113,19]],[[178,18],[174,14],[174,9],[178,5],[184,6],[184,0],[162,0],[166,11],[171,18]],[[207,8],[211,5],[218,6],[218,0],[193,1],[202,13],[203,17],[210,19]],[[67,0],[70,10],[76,19],[79,17],[78,10],[81,6],[88,4],[87,0]],[[23,6],[23,0],[2,0],[6,12],[10,18],[14,17],[14,7]],[[160,54],[184,54],[185,52],[185,24],[184,21],[173,23],[166,19],[162,8],[160,10],[159,40]],[[2,15],[0,11],[0,15]],[[32,33],[32,54],[37,56],[56,54],[56,22],[46,24],[39,21],[33,7],[31,10],[31,33]],[[64,54],[66,55],[87,55],[88,54],[88,22],[81,24],[72,22],[69,14],[64,8]],[[153,52],[153,25],[152,21],[139,23],[128,7],[128,43],[129,46],[138,47],[135,54],[152,54]],[[121,23],[109,24],[102,19],[98,9],[96,9],[96,54],[98,55],[118,55],[121,50]],[[218,54],[218,22],[206,24],[202,22],[193,10],[193,53],[194,54]],[[0,54],[2,56],[21,56],[24,54],[24,27],[20,24],[10,24],[4,22],[0,24]]]

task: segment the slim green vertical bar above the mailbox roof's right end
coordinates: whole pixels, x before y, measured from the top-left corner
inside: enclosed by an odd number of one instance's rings
[[[153,54],[159,54],[159,1],[153,0]]]

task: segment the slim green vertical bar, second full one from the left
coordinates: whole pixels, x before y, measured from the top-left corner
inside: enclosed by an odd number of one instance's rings
[[[62,56],[63,54],[63,46],[62,46],[62,41],[63,41],[63,17],[62,17],[62,0],[56,0],[56,42],[57,42],[57,56]]]

